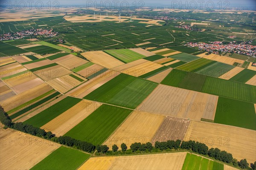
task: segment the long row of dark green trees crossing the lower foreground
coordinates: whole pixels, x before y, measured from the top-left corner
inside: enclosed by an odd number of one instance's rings
[[[83,150],[85,152],[93,153],[94,150],[97,150],[99,153],[115,153],[118,151],[119,147],[114,144],[112,146],[112,152],[109,151],[109,147],[107,145],[97,145],[94,146],[93,144],[85,141],[80,141],[70,136],[59,136],[56,137],[55,134],[52,132],[46,132],[44,129],[39,127],[34,127],[32,125],[23,124],[22,122],[14,123],[8,116],[8,114],[3,110],[0,106],[0,122],[5,125],[6,127],[10,127],[24,133],[29,133],[33,136],[43,137],[44,139],[50,139],[53,142],[58,142],[60,144],[67,145],[69,147],[75,147],[77,149]],[[195,141],[182,141],[181,140],[168,140],[167,142],[155,142],[154,146],[151,142],[147,143],[140,143],[135,142],[131,144],[130,150],[127,150],[127,145],[125,143],[121,144],[121,150],[123,153],[125,152],[160,152],[164,150],[172,150],[172,149],[185,149],[185,150],[192,150],[195,153],[208,155],[209,157],[215,158],[217,160],[226,162],[226,163],[233,163],[234,166],[239,166],[241,168],[247,168],[249,164],[247,163],[246,159],[242,159],[237,161],[233,158],[231,153],[227,153],[224,150],[219,150],[218,148],[208,148],[206,144],[195,142]],[[250,166],[255,170],[256,162],[251,163]]]

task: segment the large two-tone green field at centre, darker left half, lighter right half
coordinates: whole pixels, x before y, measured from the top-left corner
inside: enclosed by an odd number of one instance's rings
[[[84,99],[135,109],[156,87],[157,83],[119,74]]]

